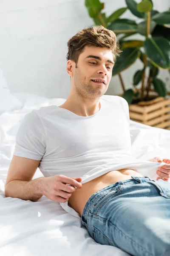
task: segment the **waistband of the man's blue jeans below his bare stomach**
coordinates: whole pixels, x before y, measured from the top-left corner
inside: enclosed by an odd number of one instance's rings
[[[140,176],[131,176],[132,178],[131,179],[128,179],[128,180],[119,180],[117,181],[116,183],[113,183],[97,192],[95,192],[93,195],[91,195],[91,197],[88,199],[87,203],[85,204],[85,207],[83,209],[83,212],[82,212],[82,217],[86,214],[88,214],[88,212],[86,211],[86,209],[90,208],[91,205],[94,203],[94,201],[96,201],[96,199],[98,197],[101,196],[102,193],[104,192],[109,192],[109,190],[111,189],[115,189],[117,186],[120,186],[120,185],[128,185],[128,183],[130,182],[133,182],[133,184],[135,183],[145,183],[147,182],[148,180],[151,180],[150,177],[147,177],[147,176],[144,176],[144,177],[140,177]]]

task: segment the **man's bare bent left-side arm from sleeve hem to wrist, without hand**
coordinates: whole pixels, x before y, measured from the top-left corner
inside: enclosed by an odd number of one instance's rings
[[[40,160],[13,156],[5,185],[5,196],[37,201],[42,197],[45,177],[32,180]]]

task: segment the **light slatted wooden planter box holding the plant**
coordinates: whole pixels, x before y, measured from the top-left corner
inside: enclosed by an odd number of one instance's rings
[[[145,125],[170,130],[170,99],[158,97],[129,105],[130,119]]]

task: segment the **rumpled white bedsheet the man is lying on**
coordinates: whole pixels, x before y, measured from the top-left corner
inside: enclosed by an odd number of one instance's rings
[[[123,250],[96,243],[81,221],[42,196],[39,201],[5,198],[4,186],[14,152],[15,135],[26,113],[42,106],[61,105],[65,99],[47,99],[13,93],[23,108],[0,115],[0,255],[2,256],[129,256]],[[132,154],[138,159],[170,158],[170,131],[130,120]],[[143,174],[143,173],[142,173]],[[143,174],[144,175],[144,174]],[[37,169],[33,178],[42,177]],[[156,179],[155,173],[146,173]]]

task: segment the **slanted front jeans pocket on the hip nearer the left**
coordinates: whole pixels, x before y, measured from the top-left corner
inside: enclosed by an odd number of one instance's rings
[[[94,208],[99,211],[99,209],[101,209],[110,199],[119,195],[122,190],[123,186],[120,184],[113,189],[106,190],[99,198],[97,198]]]

